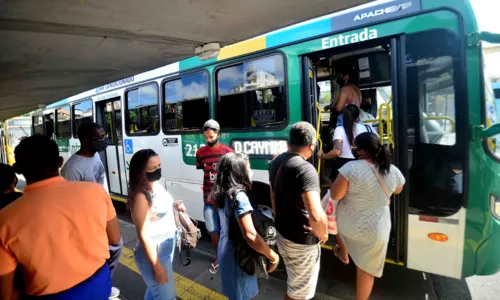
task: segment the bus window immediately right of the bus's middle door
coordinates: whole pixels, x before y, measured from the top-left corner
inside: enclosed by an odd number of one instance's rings
[[[125,93],[127,107],[125,130],[127,135],[156,135],[160,132],[158,120],[158,89],[147,84]]]

